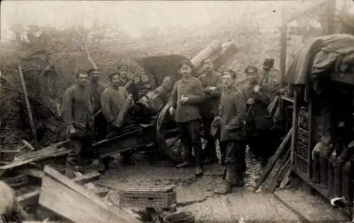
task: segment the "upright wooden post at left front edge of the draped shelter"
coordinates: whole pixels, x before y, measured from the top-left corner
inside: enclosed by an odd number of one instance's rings
[[[290,167],[294,169],[294,162],[296,160],[295,151],[297,151],[297,136],[299,134],[299,100],[297,98],[297,91],[294,92],[294,103],[292,103],[292,138],[291,138],[291,154]]]

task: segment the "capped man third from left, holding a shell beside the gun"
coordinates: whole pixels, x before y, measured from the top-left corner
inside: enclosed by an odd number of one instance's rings
[[[122,105],[127,98],[132,99],[132,97],[127,93],[123,86],[120,86],[120,74],[110,74],[109,78],[110,86],[103,91],[101,101],[102,113],[105,120],[108,122],[108,132],[113,132],[119,128],[116,119]],[[133,164],[132,151],[124,151],[121,155],[125,164]]]

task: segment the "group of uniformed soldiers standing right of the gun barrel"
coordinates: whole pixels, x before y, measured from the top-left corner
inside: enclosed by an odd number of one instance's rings
[[[184,159],[178,167],[195,166],[195,176],[201,176],[203,166],[217,163],[216,140],[219,140],[224,185],[215,193],[231,193],[234,187],[244,186],[246,146],[248,145],[261,167],[273,154],[273,116],[268,110],[272,96],[263,91],[264,77],[258,69],[245,69],[246,80],[236,84],[236,72],[214,70],[212,59],[202,61],[204,72],[197,77],[195,67],[185,60],[178,64],[182,78],[176,81],[169,98],[169,113],[178,122]],[[269,70],[265,66],[263,70]],[[200,127],[207,140],[202,149]],[[193,156],[194,151],[194,156]]]

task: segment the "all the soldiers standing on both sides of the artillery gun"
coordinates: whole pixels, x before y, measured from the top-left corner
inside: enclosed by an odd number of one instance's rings
[[[215,146],[219,140],[225,183],[215,193],[231,193],[234,187],[244,186],[246,145],[260,159],[261,166],[273,154],[270,143],[273,119],[267,109],[272,98],[263,91],[263,79],[256,67],[247,67],[246,84],[236,86],[236,73],[232,69],[220,74],[210,58],[205,58],[202,66],[204,71],[198,76],[190,61],[181,61],[177,72],[182,78],[176,81],[169,97],[169,113],[178,123],[184,151],[184,161],[177,167],[195,166],[195,176],[202,176],[203,166],[219,161]],[[121,127],[116,117],[126,101],[134,105],[125,90],[130,81],[128,72],[127,65],[118,67],[118,72],[109,75],[107,88],[99,83],[98,69],[76,72],[77,81],[65,91],[62,103],[71,147],[67,176],[98,158],[98,151],[91,144]],[[202,149],[201,127],[207,140],[205,149]],[[122,157],[125,164],[133,163],[131,151],[125,151]]]

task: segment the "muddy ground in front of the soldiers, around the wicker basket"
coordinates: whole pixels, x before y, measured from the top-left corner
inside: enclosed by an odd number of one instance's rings
[[[280,191],[289,204],[280,202],[273,194],[253,193],[259,165],[247,156],[245,188],[236,188],[231,195],[214,195],[222,185],[222,166],[205,167],[205,174],[195,178],[193,168],[176,168],[169,161],[152,164],[137,159],[135,166],[122,166],[114,161],[111,168],[99,180],[99,185],[110,188],[108,198],[119,205],[119,191],[147,185],[176,185],[178,210],[193,212],[197,222],[304,222],[341,219],[346,215],[333,210],[329,202],[319,195],[312,195],[292,181],[292,185]],[[278,193],[278,192],[277,192]],[[299,212],[301,215],[298,215]]]

